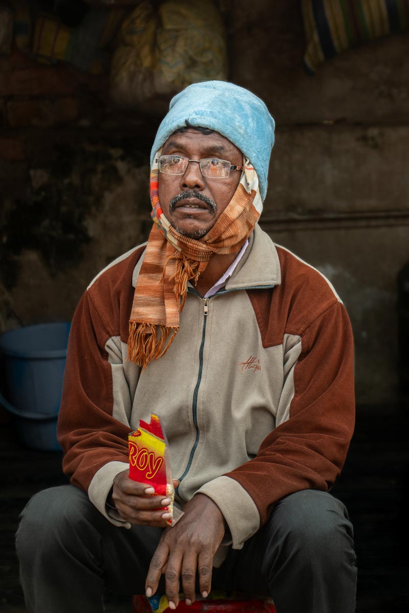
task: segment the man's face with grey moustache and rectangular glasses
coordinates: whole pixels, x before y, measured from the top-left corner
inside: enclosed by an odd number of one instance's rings
[[[226,159],[234,166],[243,165],[242,152],[218,132],[202,134],[191,128],[175,132],[162,148],[162,155],[169,154],[194,160]],[[231,170],[227,178],[203,177],[199,164],[193,162],[189,163],[183,175],[159,172],[162,211],[180,234],[201,238],[215,225],[229,204],[240,177],[240,170]]]

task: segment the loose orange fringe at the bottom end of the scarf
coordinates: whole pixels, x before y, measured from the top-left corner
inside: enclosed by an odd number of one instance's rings
[[[136,362],[142,370],[145,370],[151,360],[157,360],[166,354],[177,331],[178,328],[130,321],[128,337],[129,362]]]

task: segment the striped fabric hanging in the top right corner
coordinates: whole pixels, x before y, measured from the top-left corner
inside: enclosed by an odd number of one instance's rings
[[[409,28],[409,0],[302,0],[301,6],[310,74],[340,51]]]

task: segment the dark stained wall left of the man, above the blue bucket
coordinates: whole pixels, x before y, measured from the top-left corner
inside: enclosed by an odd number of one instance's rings
[[[147,235],[158,118],[107,101],[105,76],[0,56],[0,332],[71,319],[94,275]]]

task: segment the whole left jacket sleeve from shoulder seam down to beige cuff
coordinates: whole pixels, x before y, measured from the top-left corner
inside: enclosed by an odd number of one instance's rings
[[[128,465],[131,393],[122,346],[128,339],[132,273],[142,252],[143,247],[132,249],[91,283],[75,311],[68,343],[57,427],[63,470],[89,495],[99,471],[90,498],[101,512],[105,489],[109,491],[115,473]],[[113,369],[120,373],[121,394],[117,391],[115,402],[121,406],[114,403]],[[137,377],[137,369],[131,370]],[[120,419],[115,419],[118,414]]]

